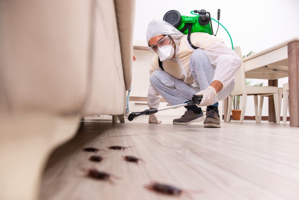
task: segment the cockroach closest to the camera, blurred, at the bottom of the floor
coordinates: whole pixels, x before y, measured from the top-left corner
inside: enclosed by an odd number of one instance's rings
[[[191,193],[202,193],[203,191],[203,190],[185,190],[185,189],[183,190],[183,189],[173,187],[171,185],[160,184],[157,182],[150,182],[150,184],[145,185],[144,187],[158,193],[163,193],[172,196],[180,196],[184,194],[189,199],[192,199]]]

